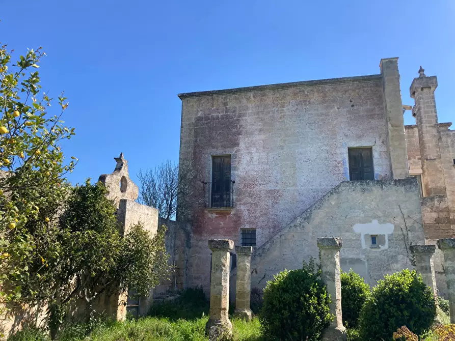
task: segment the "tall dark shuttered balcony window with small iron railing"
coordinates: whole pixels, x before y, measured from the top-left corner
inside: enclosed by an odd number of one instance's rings
[[[212,156],[211,207],[231,206],[231,156]]]

